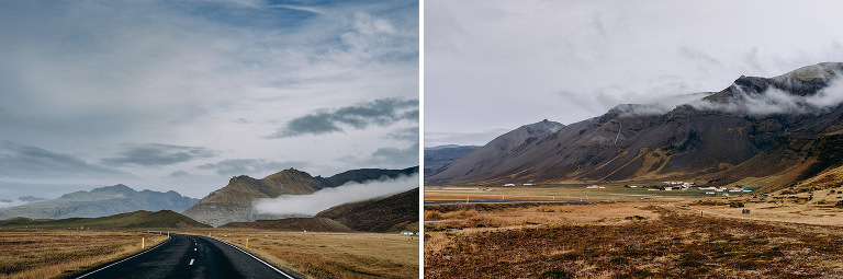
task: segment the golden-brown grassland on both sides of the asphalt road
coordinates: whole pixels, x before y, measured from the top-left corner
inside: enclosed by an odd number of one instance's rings
[[[304,278],[416,278],[418,236],[193,229]],[[67,278],[162,243],[167,235],[108,231],[0,230],[0,278]],[[246,239],[249,239],[246,247]]]

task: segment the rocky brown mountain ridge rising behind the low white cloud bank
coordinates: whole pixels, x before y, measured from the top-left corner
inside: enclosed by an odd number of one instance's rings
[[[183,214],[214,226],[229,222],[278,219],[282,217],[258,213],[252,208],[252,202],[258,199],[277,198],[281,195],[308,195],[349,182],[363,183],[382,178],[396,178],[414,173],[418,173],[418,166],[404,170],[361,168],[342,172],[330,177],[314,177],[294,168],[278,172],[262,179],[241,175],[229,179],[228,185],[212,191],[184,210]]]

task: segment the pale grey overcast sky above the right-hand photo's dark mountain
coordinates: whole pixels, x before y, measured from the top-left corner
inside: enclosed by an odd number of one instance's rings
[[[843,62],[840,1],[424,2],[425,147]]]

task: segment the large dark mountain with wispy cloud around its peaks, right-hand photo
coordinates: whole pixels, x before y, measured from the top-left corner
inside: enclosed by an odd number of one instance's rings
[[[843,165],[843,63],[820,63],[732,85],[665,113],[619,105],[530,137],[503,135],[427,184],[765,178],[773,190]],[[650,112],[650,113],[640,113]],[[519,140],[520,139],[520,140]],[[840,170],[843,171],[843,170]]]

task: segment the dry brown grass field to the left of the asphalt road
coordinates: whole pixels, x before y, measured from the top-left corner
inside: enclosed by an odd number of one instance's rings
[[[65,278],[127,257],[167,235],[74,230],[0,230],[0,278]]]

